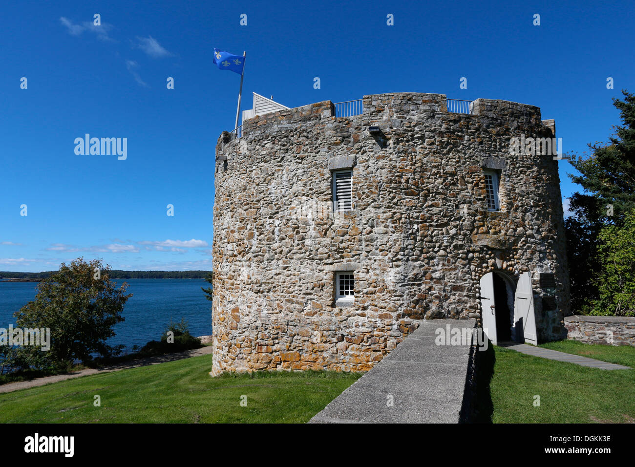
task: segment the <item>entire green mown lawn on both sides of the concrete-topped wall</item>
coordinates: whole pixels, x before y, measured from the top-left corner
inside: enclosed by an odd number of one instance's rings
[[[580,355],[608,362],[635,362],[635,348],[578,344],[553,345],[591,351]],[[635,370],[581,367],[498,347],[495,356],[495,423],[635,421]],[[211,355],[203,355],[0,394],[0,422],[304,423],[361,376],[259,372],[212,378],[210,369]],[[95,395],[101,407],[93,405]],[[243,395],[246,407],[240,405]],[[534,395],[540,407],[534,407]]]

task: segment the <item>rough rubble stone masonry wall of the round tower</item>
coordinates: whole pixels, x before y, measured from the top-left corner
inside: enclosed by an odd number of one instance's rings
[[[455,114],[443,94],[368,95],[361,115],[335,118],[327,100],[220,135],[212,375],[368,370],[420,320],[480,323],[479,279],[494,270],[535,273],[538,335],[563,336],[558,161],[509,154],[512,137],[554,137],[554,123],[533,105],[473,105]],[[331,169],[351,165],[353,210],[333,213]],[[484,167],[500,170],[498,212],[486,209]],[[354,271],[347,306],[337,271]],[[555,311],[542,310],[538,272],[555,275]]]

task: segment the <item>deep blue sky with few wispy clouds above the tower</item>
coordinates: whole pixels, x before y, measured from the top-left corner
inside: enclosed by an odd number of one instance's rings
[[[635,91],[633,10],[631,1],[4,1],[0,270],[57,269],[78,256],[116,269],[211,269],[214,148],[234,126],[240,80],[213,65],[214,47],[247,51],[242,109],[251,91],[288,107],[391,91],[500,98],[538,105],[565,151],[582,152],[618,123],[611,98]],[[76,155],[85,133],[126,137],[126,160]],[[569,196],[572,168],[559,164]]]

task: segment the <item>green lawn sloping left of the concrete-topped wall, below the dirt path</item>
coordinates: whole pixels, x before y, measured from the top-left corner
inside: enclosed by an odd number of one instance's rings
[[[361,376],[260,372],[212,378],[210,370],[211,355],[203,355],[0,394],[0,422],[304,423]],[[95,395],[101,407],[93,405]]]

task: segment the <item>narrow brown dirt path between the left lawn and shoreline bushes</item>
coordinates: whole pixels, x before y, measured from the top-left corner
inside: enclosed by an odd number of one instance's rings
[[[51,384],[51,382],[65,381],[66,379],[79,378],[81,376],[109,373],[112,371],[125,370],[128,368],[145,367],[147,365],[156,365],[157,363],[173,362],[174,360],[181,360],[182,358],[208,355],[211,354],[211,351],[212,346],[206,346],[201,347],[200,349],[187,350],[185,352],[168,353],[166,355],[158,355],[149,358],[141,358],[139,360],[131,360],[130,362],[120,363],[119,365],[112,365],[110,367],[104,367],[98,370],[90,368],[64,375],[45,376],[42,378],[32,379],[30,381],[10,382],[8,384],[3,384],[2,386],[0,386],[0,393],[10,393],[12,391],[17,391],[18,389],[35,388],[36,386]]]

